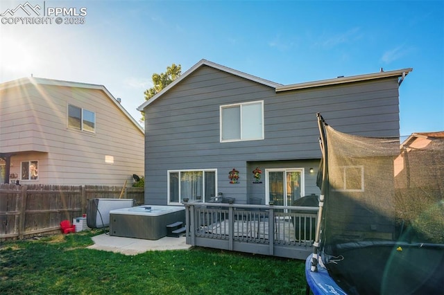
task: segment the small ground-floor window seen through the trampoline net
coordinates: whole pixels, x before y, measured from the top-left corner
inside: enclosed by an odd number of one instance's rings
[[[341,177],[335,179],[334,190],[364,192],[364,166],[342,166],[339,169]]]

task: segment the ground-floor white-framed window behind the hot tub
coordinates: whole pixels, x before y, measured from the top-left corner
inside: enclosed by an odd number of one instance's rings
[[[169,203],[207,202],[216,195],[216,170],[170,170],[168,193]]]

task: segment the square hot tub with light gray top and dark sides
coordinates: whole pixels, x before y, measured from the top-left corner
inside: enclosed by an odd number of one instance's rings
[[[110,235],[158,240],[167,235],[167,224],[183,222],[185,207],[143,205],[110,211]]]

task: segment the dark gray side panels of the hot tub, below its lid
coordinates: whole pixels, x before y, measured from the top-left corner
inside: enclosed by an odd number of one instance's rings
[[[185,210],[159,216],[110,214],[110,235],[158,240],[167,235],[167,224],[184,222]]]

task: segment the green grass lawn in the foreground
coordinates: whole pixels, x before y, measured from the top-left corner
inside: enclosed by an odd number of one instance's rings
[[[1,242],[0,294],[305,294],[304,262],[215,249],[85,249],[101,231]]]

